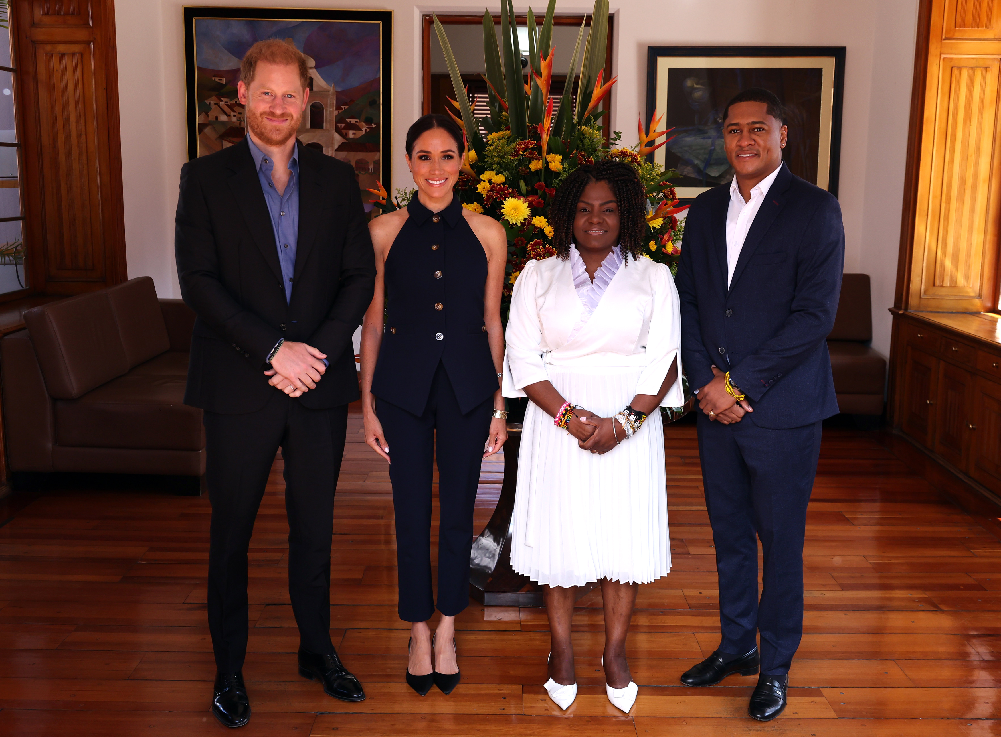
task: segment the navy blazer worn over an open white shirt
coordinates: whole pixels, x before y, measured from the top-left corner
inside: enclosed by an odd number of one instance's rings
[[[676,284],[689,385],[730,371],[767,428],[801,427],[838,413],[827,336],[845,262],[841,207],[829,192],[782,170],[765,195],[730,288],[730,184],[696,198],[685,221]]]

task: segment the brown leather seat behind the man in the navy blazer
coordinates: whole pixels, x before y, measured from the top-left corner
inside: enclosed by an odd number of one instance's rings
[[[827,336],[838,407],[844,414],[883,414],[886,359],[870,346],[872,291],[868,274],[845,274],[834,330]]]

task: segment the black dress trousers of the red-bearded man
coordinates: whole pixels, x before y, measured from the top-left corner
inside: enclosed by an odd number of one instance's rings
[[[247,648],[247,548],[275,453],[284,460],[288,595],[301,646],[330,654],[333,493],[347,432],[347,405],[308,409],[274,391],[240,415],[204,413],[205,474],[212,523],[208,628],[216,667],[235,672]]]

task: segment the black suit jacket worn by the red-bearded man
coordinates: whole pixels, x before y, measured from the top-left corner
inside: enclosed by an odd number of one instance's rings
[[[372,299],[375,260],[351,167],[297,144],[299,229],[291,302],[264,193],[244,140],[181,168],[174,249],[181,296],[197,314],[184,403],[241,414],[277,391],[265,359],[279,339],[326,354],[299,401],[358,398],[351,335]]]

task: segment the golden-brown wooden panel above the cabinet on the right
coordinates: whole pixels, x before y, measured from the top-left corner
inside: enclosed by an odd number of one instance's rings
[[[924,5],[897,306],[987,312],[998,306],[1001,0]]]

